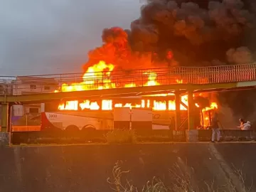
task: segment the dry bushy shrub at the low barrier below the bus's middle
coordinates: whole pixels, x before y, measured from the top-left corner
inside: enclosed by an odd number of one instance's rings
[[[120,129],[108,132],[106,139],[109,144],[132,144],[137,141],[136,134],[133,130]]]

